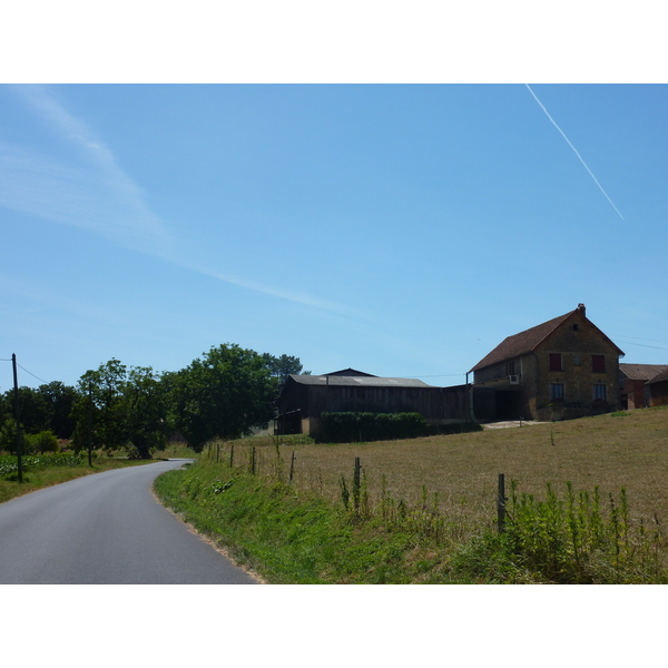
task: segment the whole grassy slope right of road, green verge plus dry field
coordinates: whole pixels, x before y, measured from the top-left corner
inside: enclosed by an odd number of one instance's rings
[[[156,491],[268,582],[664,583],[667,438],[668,411],[648,410],[404,442],[237,441],[232,468],[215,444]]]

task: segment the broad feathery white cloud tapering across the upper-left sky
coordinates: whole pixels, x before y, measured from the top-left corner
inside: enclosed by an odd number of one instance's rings
[[[203,262],[203,249],[179,239],[147,204],[141,187],[86,121],[40,86],[12,87],[69,148],[53,157],[0,141],[0,206],[98,234],[118,245],[189,271],[308,307],[351,315],[348,307],[288,288],[225,275]]]

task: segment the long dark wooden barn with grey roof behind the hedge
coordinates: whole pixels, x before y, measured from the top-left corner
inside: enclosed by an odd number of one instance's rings
[[[430,424],[466,422],[466,386],[436,387],[415,379],[387,379],[354,369],[291,375],[278,400],[276,433],[317,435],[332,412],[421,413]]]

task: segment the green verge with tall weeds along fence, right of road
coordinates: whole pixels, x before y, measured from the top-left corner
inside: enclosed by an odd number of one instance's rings
[[[590,498],[567,485],[559,498],[548,485],[541,500],[513,484],[507,531],[498,533],[495,518],[463,527],[424,488],[415,505],[384,489],[372,508],[363,472],[342,474],[333,503],[289,484],[279,452],[264,474],[249,469],[200,460],[160,475],[155,490],[271,583],[668,581],[659,527],[632,523],[623,490],[606,511],[598,489]]]

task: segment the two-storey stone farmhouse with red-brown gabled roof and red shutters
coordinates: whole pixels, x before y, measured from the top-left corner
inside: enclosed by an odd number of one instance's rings
[[[615,411],[622,355],[579,304],[509,336],[473,366],[475,415],[550,421]]]

